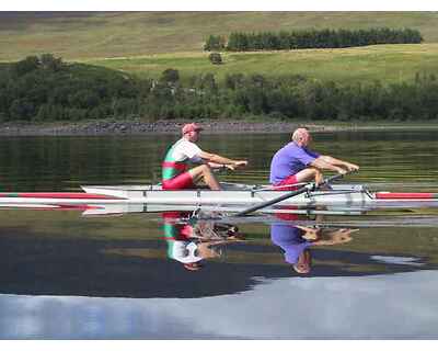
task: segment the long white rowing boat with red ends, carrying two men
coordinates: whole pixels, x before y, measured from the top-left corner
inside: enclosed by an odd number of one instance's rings
[[[0,193],[1,207],[25,206],[105,206],[119,205],[132,208],[173,207],[207,208],[239,212],[247,206],[277,199],[287,191],[260,189],[255,185],[223,184],[223,190],[183,190],[164,191],[160,185],[115,185],[82,186],[84,192],[41,192],[41,193]],[[292,211],[297,207],[314,208],[319,206],[344,208],[381,208],[381,207],[438,207],[437,193],[392,193],[369,192],[364,185],[334,184],[332,190],[307,192],[260,212],[275,210]],[[148,211],[149,212],[149,211]]]

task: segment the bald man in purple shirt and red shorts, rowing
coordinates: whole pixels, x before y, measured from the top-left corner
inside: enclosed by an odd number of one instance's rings
[[[323,181],[322,170],[331,170],[345,174],[358,170],[359,167],[336,159],[332,156],[320,155],[308,148],[312,137],[306,128],[298,128],[292,134],[292,141],[285,145],[273,157],[270,162],[269,181],[279,190],[293,190],[296,183]],[[290,186],[288,186],[290,185]]]

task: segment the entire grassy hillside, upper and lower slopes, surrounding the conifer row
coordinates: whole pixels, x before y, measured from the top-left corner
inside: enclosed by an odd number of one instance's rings
[[[435,12],[0,12],[0,61],[51,53],[68,61],[158,77],[174,68],[185,78],[214,72],[304,75],[322,80],[411,80],[438,68]],[[420,31],[420,45],[229,53],[211,65],[201,47],[209,34],[297,29]]]

